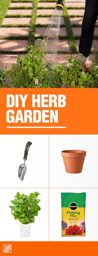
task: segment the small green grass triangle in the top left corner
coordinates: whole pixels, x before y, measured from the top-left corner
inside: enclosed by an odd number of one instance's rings
[[[2,25],[2,21],[5,17],[7,9],[10,5],[10,0],[0,0],[0,27]]]

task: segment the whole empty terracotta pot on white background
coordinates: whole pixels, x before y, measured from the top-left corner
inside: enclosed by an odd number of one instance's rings
[[[69,173],[80,173],[86,156],[84,150],[64,150],[61,152],[64,160],[65,170]]]

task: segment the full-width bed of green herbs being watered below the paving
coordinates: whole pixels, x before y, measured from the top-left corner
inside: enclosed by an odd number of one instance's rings
[[[62,65],[48,62],[43,50],[45,40],[31,46],[28,53],[19,55],[12,68],[0,70],[0,87],[9,88],[96,88],[98,87],[98,52],[94,48],[91,68],[83,68],[78,58],[68,57]],[[36,82],[37,81],[37,82]]]

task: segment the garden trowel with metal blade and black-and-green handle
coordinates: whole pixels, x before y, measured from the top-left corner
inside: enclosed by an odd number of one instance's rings
[[[25,165],[25,161],[27,160],[27,155],[28,155],[30,145],[32,145],[32,142],[28,141],[25,146],[25,154],[23,158],[24,164],[21,164],[18,169],[18,177],[20,178],[20,180],[24,179],[25,173],[27,172],[27,166]]]

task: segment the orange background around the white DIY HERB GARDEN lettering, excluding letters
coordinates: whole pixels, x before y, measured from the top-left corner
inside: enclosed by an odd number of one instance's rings
[[[7,94],[65,94],[66,107],[59,108],[59,123],[21,124],[21,126],[66,126],[66,129],[7,129],[6,95]],[[30,100],[25,109],[32,109]],[[16,109],[13,107],[13,110]],[[18,109],[18,108],[17,108]],[[20,108],[19,108],[20,109]],[[40,108],[41,109],[41,108]],[[46,108],[48,109],[48,108]],[[58,109],[58,108],[57,108]],[[0,134],[98,134],[98,89],[0,89]]]

